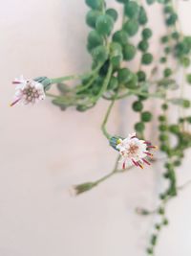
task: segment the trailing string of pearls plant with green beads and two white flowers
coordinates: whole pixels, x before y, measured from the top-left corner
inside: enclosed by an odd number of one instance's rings
[[[90,8],[86,23],[91,28],[87,38],[87,50],[93,59],[91,71],[55,79],[15,79],[13,83],[17,85],[16,93],[11,105],[33,105],[45,99],[47,95],[53,98],[53,105],[57,105],[61,110],[74,106],[77,111],[83,112],[94,107],[101,98],[110,102],[101,129],[109,145],[117,151],[114,170],[96,181],[74,186],[75,195],[78,195],[93,189],[112,175],[133,167],[143,169],[144,165],[158,160],[148,159],[153,156],[151,151],[156,147],[145,140],[145,128],[147,123],[152,122],[153,114],[145,109],[144,103],[156,101],[160,104],[159,150],[165,154],[163,177],[168,180],[168,187],[159,195],[160,203],[157,209],[137,209],[141,215],[159,215],[159,221],[154,226],[154,233],[146,248],[147,254],[153,255],[159,232],[168,224],[166,205],[184,187],[177,186],[176,170],[180,168],[184,151],[191,147],[191,116],[187,114],[190,99],[184,97],[185,86],[191,84],[191,74],[187,71],[190,66],[191,36],[181,33],[176,2],[173,0],[145,0],[144,3],[136,0],[117,0],[123,9],[121,28],[117,31],[114,31],[118,18],[115,9],[108,8],[104,0],[85,2]],[[166,25],[166,35],[159,39],[160,58],[149,52],[153,32],[148,26],[147,10],[156,2],[161,5]],[[136,42],[132,40],[135,35],[139,38]],[[129,62],[134,58],[139,61],[137,72],[133,71]],[[153,64],[152,69],[146,72],[145,69],[150,64]],[[178,79],[180,73],[181,81]],[[77,81],[75,86],[65,83],[71,80]],[[53,84],[57,84],[59,95],[48,93]],[[122,138],[120,134],[110,134],[106,126],[115,102],[128,97],[137,98],[131,107],[139,113],[139,121],[135,124],[135,132]],[[175,109],[178,109],[178,117],[172,123],[169,113]]]

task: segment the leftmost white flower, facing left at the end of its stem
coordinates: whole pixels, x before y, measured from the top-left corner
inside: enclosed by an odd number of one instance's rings
[[[25,80],[23,76],[21,76],[19,79],[12,81],[12,83],[17,84],[17,86],[15,88],[14,101],[11,103],[11,106],[17,103],[33,105],[45,99],[43,84],[38,81]]]

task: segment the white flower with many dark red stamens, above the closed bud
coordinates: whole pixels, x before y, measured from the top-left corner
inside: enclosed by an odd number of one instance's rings
[[[147,156],[152,157],[153,154],[149,152],[149,149],[156,149],[151,143],[144,140],[139,140],[136,137],[136,133],[129,134],[125,139],[117,140],[117,150],[122,157],[122,168],[125,169],[126,165],[135,165],[143,169],[142,164],[150,163],[145,159]]]

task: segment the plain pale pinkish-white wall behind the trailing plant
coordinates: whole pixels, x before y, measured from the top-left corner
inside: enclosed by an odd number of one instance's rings
[[[183,31],[191,34],[191,1],[178,2]],[[61,112],[50,99],[9,107],[11,81],[20,74],[53,78],[89,69],[87,10],[82,0],[1,3],[0,256],[145,255],[154,220],[136,215],[135,208],[158,203],[160,164],[116,175],[77,198],[69,193],[71,185],[113,168],[116,152],[99,129],[108,103],[86,113]],[[159,5],[149,12],[156,33],[151,50],[159,54]],[[124,105],[130,103],[115,107],[109,129],[126,135],[135,117]],[[180,184],[191,178],[189,152],[178,170]],[[157,256],[191,255],[190,198],[188,187],[169,203],[170,225],[161,232]]]

